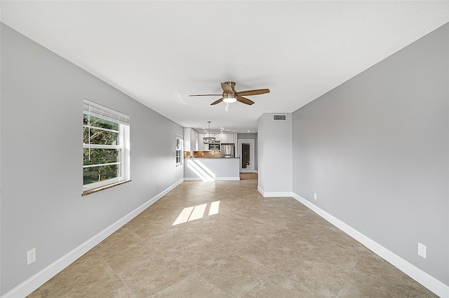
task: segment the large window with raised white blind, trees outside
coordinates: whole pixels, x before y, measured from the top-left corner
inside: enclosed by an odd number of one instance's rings
[[[84,100],[83,190],[129,180],[129,116]]]

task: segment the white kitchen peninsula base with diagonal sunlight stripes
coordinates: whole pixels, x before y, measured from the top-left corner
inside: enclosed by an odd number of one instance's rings
[[[187,157],[184,159],[184,180],[240,180],[237,158]]]

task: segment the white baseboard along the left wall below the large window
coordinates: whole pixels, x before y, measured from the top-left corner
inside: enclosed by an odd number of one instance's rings
[[[177,185],[180,185],[182,181],[182,179],[177,181],[175,184],[171,185],[163,192],[157,194],[156,197],[149,199],[138,208],[135,208],[133,211],[123,216],[123,218],[120,218],[112,225],[109,225],[109,227],[93,236],[91,239],[88,239],[88,241],[82,243],[80,246],[74,248],[66,255],[60,257],[58,260],[48,265],[38,273],[34,274],[34,276],[28,278],[26,281],[20,283],[20,285],[16,286],[12,290],[6,292],[4,295],[1,295],[1,298],[26,297],[27,295],[31,294],[34,290],[49,281],[53,276],[60,273],[62,269],[65,269],[67,266],[69,266],[69,264],[72,264],[73,262],[78,260],[79,257],[94,248],[96,245],[98,245],[98,243],[105,240],[112,233],[116,232],[116,230],[123,227],[123,225],[142,213],[142,211],[145,211],[146,208],[152,206],[152,204],[161,199],[161,197],[170,192],[170,190],[173,190],[173,188],[177,187]]]

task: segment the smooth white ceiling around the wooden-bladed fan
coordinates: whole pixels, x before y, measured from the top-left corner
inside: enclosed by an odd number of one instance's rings
[[[257,131],[449,22],[449,1],[1,1],[1,22],[183,127]],[[269,88],[221,103],[220,82]]]

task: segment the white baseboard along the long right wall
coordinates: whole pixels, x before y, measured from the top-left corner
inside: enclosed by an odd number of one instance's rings
[[[257,189],[259,188],[257,187]],[[403,260],[403,258],[392,253],[390,250],[387,250],[387,248],[384,248],[379,243],[368,238],[361,232],[358,232],[356,229],[350,227],[338,218],[335,218],[333,215],[330,215],[326,211],[323,211],[321,208],[312,204],[310,201],[307,201],[307,199],[304,199],[303,197],[300,197],[295,193],[293,193],[292,197],[297,201],[300,201],[300,203],[307,206],[309,209],[311,209],[311,211],[314,211],[322,218],[330,222],[332,225],[335,225],[335,227],[337,227],[338,229],[341,229],[343,232],[356,239],[356,241],[362,243],[368,249],[372,250],[373,253],[379,255],[380,257],[382,257],[382,259],[386,260],[394,267],[403,271],[403,273],[407,274],[421,285],[424,285],[424,287],[428,288],[439,297],[449,298],[449,285],[445,285],[441,281],[438,281],[438,279],[415,267],[413,264],[410,264],[406,260]]]

